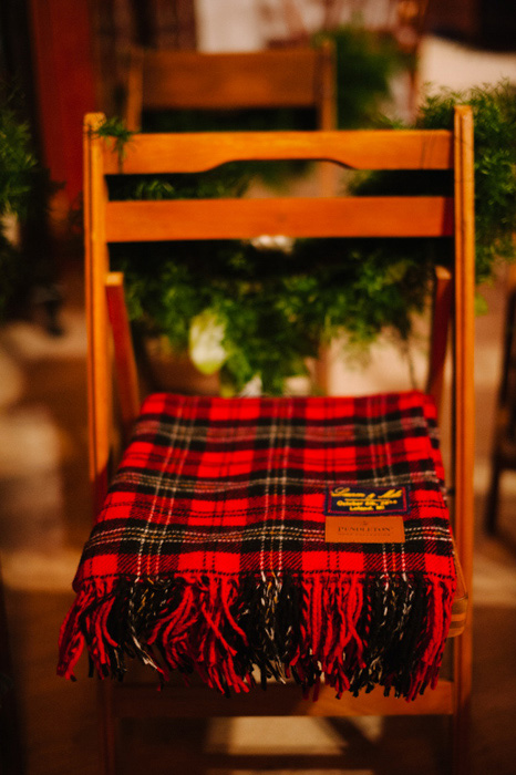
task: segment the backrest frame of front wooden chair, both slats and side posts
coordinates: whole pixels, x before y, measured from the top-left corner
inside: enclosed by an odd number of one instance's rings
[[[112,242],[249,239],[260,235],[291,237],[452,237],[453,285],[436,285],[429,391],[437,399],[446,353],[446,310],[453,327],[453,477],[455,537],[466,587],[472,577],[474,454],[474,213],[473,120],[468,107],[455,110],[453,131],[347,131],[209,134],[140,134],[127,147],[124,174],[197,173],[230,161],[328,159],[353,169],[447,169],[452,196],[375,196],[256,199],[110,202],[106,176],[121,172],[113,147],[95,127],[85,126],[85,259],[89,329],[91,476],[95,504],[103,500],[112,440],[109,299],[120,344],[118,383],[126,385],[122,413],[127,423],[138,395],[128,345],[120,277],[110,276]],[[452,292],[453,291],[453,292]]]

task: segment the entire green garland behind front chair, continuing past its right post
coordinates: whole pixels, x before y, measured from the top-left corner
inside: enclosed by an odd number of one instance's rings
[[[424,102],[417,126],[450,128],[455,104],[475,116],[477,280],[498,258],[512,259],[516,218],[516,106],[508,84],[466,94],[443,92]],[[213,177],[210,177],[213,176]],[[234,165],[206,176],[121,176],[115,198],[238,196],[247,177]],[[357,176],[357,195],[435,194],[450,189],[446,172]],[[368,345],[386,328],[406,341],[426,302],[433,268],[453,257],[452,240],[299,240],[291,250],[249,242],[179,242],[113,247],[126,273],[131,317],[188,348],[194,318],[208,311],[224,329],[226,389],[239,391],[256,375],[266,393],[280,393],[287,376],[303,373],[320,343],[345,330]]]

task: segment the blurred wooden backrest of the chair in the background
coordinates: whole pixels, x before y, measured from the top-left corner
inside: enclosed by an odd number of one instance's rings
[[[312,107],[320,130],[336,127],[333,46],[242,53],[133,48],[125,121],[142,124],[145,110]]]

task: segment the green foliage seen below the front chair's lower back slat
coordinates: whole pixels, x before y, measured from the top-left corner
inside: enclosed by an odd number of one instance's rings
[[[342,332],[343,321],[353,343],[370,343],[388,326],[406,338],[432,267],[424,252],[413,259],[406,240],[392,240],[390,255],[338,239],[303,240],[291,255],[230,241],[112,251],[132,319],[185,351],[192,320],[209,309],[225,329],[223,382],[240,391],[259,374],[270,394],[305,373],[305,359]]]

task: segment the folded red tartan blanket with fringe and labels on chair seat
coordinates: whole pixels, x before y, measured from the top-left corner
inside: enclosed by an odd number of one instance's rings
[[[68,678],[86,644],[101,676],[414,699],[455,591],[432,400],[151,395],[73,586]]]

